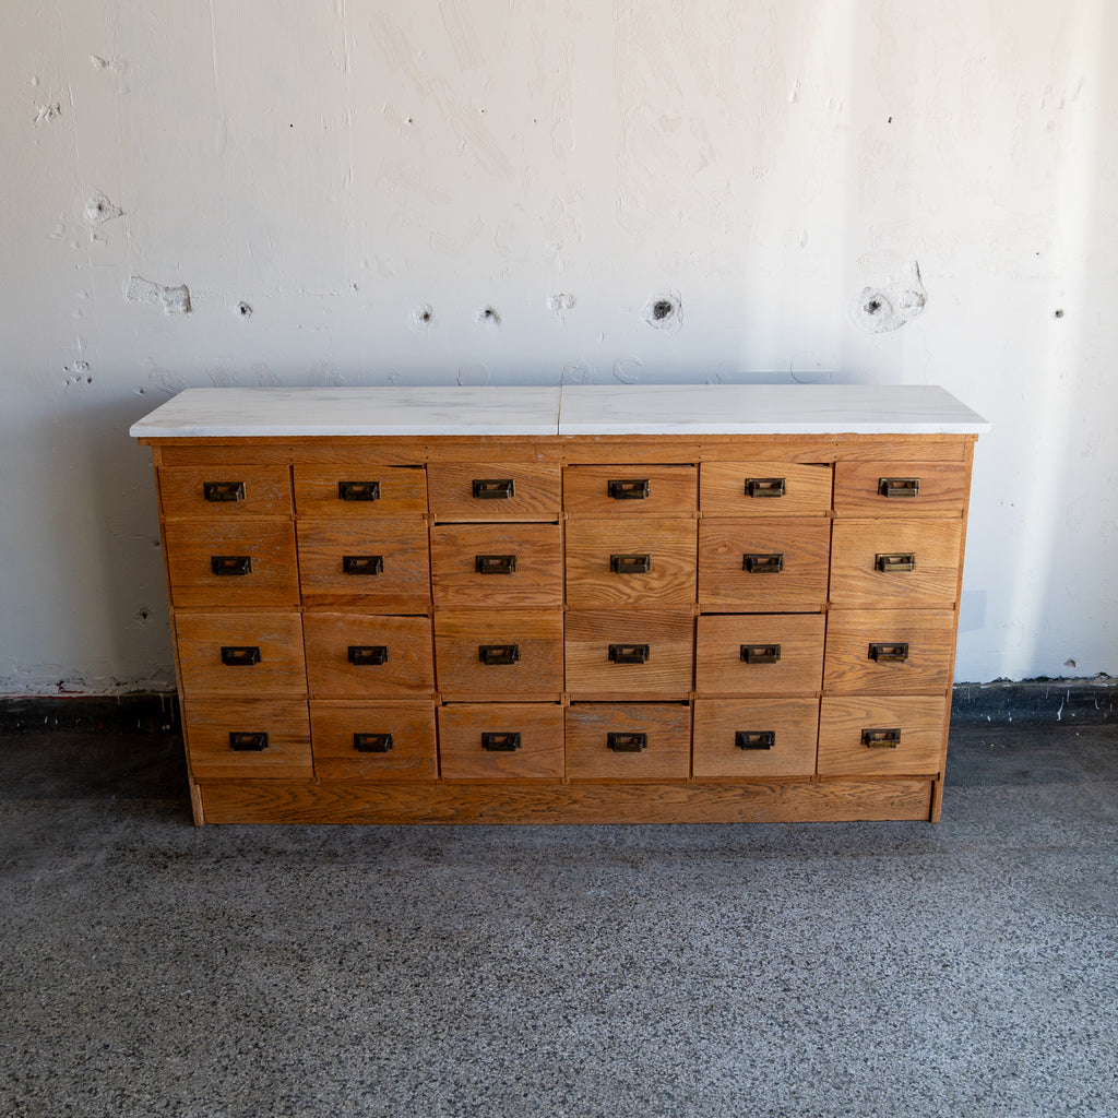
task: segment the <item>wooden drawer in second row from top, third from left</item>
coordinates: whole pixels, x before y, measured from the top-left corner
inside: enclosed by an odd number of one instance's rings
[[[562,605],[558,524],[436,524],[430,561],[436,606]]]

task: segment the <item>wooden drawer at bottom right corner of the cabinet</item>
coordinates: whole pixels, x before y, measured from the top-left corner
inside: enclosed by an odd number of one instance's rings
[[[938,773],[947,710],[942,697],[824,698],[819,711],[819,775]]]

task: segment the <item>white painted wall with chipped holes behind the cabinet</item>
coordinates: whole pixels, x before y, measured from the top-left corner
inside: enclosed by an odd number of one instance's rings
[[[0,692],[169,682],[126,430],[234,383],[941,383],[995,425],[958,678],[1118,674],[1116,44],[1110,0],[8,4]]]

